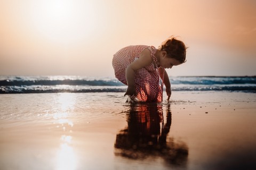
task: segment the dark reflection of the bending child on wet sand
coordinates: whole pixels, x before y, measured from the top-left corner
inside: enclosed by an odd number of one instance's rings
[[[171,126],[170,109],[166,113],[166,124],[163,124],[162,106],[156,103],[132,106],[127,122],[127,129],[116,135],[116,155],[131,159],[158,156],[169,164],[186,164],[187,146],[184,143],[175,143],[172,139],[166,143]]]

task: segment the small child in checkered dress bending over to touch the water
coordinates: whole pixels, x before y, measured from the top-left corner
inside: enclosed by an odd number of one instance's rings
[[[175,38],[167,39],[156,49],[153,46],[135,45],[124,47],[113,57],[116,78],[126,84],[125,95],[139,101],[161,102],[163,84],[168,100],[171,84],[165,69],[186,62],[186,46]],[[162,79],[159,85],[159,77]]]

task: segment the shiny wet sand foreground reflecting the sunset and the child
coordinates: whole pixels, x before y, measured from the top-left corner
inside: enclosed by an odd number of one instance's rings
[[[0,169],[256,169],[256,94],[0,95]]]

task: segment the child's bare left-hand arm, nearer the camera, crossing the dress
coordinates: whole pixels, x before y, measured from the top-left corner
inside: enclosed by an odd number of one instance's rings
[[[135,95],[134,72],[145,66],[148,66],[152,63],[152,61],[153,59],[151,58],[150,50],[146,48],[145,50],[143,50],[143,52],[140,54],[140,57],[137,60],[133,61],[129,66],[127,66],[125,71],[125,77],[128,84],[128,88],[124,96]]]

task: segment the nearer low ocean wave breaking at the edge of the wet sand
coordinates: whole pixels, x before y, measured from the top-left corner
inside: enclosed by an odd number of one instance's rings
[[[55,92],[125,92],[127,86],[5,86],[0,94],[55,93]],[[256,92],[256,86],[172,86],[172,91],[242,91]]]

